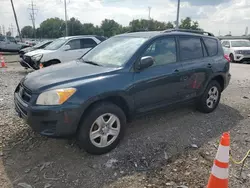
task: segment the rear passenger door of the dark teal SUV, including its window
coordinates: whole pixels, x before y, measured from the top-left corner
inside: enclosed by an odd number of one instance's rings
[[[214,47],[214,51],[217,53],[218,47],[216,47]],[[180,36],[179,48],[180,60],[183,66],[183,72],[181,73],[183,91],[181,97],[183,100],[188,100],[198,96],[206,87],[207,80],[209,80],[213,72],[213,59],[209,57],[202,37]]]

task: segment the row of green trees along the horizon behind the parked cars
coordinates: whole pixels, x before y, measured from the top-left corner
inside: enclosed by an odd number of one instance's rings
[[[173,22],[159,22],[157,20],[136,19],[129,23],[129,26],[122,26],[114,20],[105,19],[100,26],[95,26],[92,23],[82,24],[78,19],[72,17],[67,22],[68,35],[100,35],[111,37],[117,34],[136,31],[161,31],[174,28]],[[199,23],[192,21],[187,17],[181,20],[180,28],[200,30]],[[31,26],[25,26],[22,29],[23,37],[31,38],[33,29]],[[60,18],[49,18],[40,24],[36,29],[38,38],[58,38],[65,36],[65,22]]]

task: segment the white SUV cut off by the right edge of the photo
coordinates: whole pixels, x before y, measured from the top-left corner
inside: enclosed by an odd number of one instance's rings
[[[243,63],[250,61],[249,40],[222,40],[224,52],[229,55],[232,62]]]

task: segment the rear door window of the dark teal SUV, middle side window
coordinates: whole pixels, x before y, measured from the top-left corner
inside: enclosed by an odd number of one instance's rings
[[[199,37],[180,37],[180,58],[182,61],[203,57],[201,40]]]

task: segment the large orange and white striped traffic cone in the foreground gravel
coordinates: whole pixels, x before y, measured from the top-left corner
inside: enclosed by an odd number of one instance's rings
[[[228,188],[230,134],[223,133],[207,188]]]

